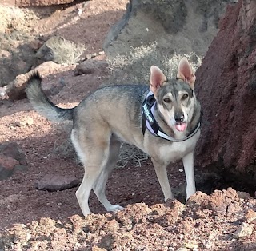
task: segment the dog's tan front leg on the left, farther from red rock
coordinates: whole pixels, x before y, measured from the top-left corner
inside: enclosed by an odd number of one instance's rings
[[[173,196],[173,193],[171,192],[170,184],[167,176],[167,170],[166,170],[167,165],[164,163],[159,163],[158,161],[154,161],[154,159],[152,159],[152,162],[154,165],[155,173],[157,173],[158,181],[161,185],[162,192],[165,197],[165,201],[167,201],[168,199],[173,199],[174,196]]]

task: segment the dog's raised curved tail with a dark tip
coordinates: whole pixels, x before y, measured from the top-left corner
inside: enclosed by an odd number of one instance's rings
[[[38,72],[34,72],[26,83],[26,96],[34,110],[52,122],[73,120],[74,108],[63,109],[55,106],[42,91],[41,82],[42,78]]]

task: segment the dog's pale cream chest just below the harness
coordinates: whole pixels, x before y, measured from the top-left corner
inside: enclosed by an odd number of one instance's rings
[[[186,154],[192,152],[198,141],[199,133],[186,141],[172,142],[170,144],[160,145],[158,157],[165,162],[178,161]]]

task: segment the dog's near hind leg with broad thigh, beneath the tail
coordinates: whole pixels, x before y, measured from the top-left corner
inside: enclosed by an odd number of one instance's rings
[[[98,131],[94,138],[87,140],[86,136],[78,131],[72,131],[71,139],[85,168],[82,183],[79,186],[76,197],[83,215],[90,213],[88,200],[90,191],[93,189],[98,177],[104,171],[106,162],[109,159],[110,133]]]

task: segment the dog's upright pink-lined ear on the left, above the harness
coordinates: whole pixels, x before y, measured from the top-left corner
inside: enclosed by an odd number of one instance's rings
[[[165,74],[157,66],[150,67],[150,90],[156,97],[158,89],[167,81]]]

